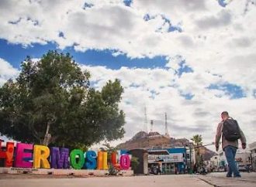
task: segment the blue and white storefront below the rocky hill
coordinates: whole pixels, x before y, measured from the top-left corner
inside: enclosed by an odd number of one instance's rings
[[[182,174],[186,171],[185,148],[148,151],[149,173]]]

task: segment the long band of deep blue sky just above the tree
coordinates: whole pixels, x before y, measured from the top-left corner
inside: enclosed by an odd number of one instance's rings
[[[113,51],[110,49],[91,49],[85,52],[78,52],[75,51],[73,47],[68,47],[63,50],[58,49],[57,45],[52,42],[46,45],[32,44],[31,46],[24,47],[21,44],[11,44],[5,39],[0,39],[0,58],[5,59],[16,68],[19,68],[19,64],[26,56],[39,59],[43,54],[47,53],[48,50],[71,53],[76,62],[89,66],[106,66],[111,69],[119,69],[122,66],[140,68],[164,67],[167,63],[166,56],[131,59],[124,54],[113,56]]]

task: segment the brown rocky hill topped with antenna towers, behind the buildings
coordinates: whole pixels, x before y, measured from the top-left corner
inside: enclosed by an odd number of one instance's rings
[[[140,131],[133,136],[129,141],[119,144],[117,148],[136,149],[136,148],[175,148],[193,146],[186,138],[170,138],[169,136],[159,134],[158,132],[147,133]],[[200,148],[203,160],[209,160],[215,152],[206,147]]]

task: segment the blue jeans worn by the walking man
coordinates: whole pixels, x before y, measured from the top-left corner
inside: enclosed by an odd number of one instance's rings
[[[234,173],[234,177],[240,177],[240,173],[238,171],[238,168],[235,162],[237,148],[228,145],[226,148],[224,148],[224,151],[225,151],[225,155],[228,163],[227,177],[231,177],[232,173]]]

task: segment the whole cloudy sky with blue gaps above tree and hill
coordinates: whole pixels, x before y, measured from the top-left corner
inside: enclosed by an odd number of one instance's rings
[[[0,86],[57,49],[92,74],[124,87],[123,139],[138,131],[214,141],[220,113],[256,141],[256,0],[2,0]],[[147,127],[145,125],[147,110]]]

